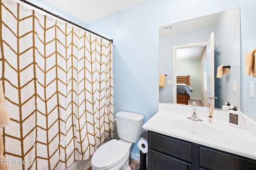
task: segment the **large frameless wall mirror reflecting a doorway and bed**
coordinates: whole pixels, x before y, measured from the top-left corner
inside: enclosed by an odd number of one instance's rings
[[[240,8],[159,27],[159,102],[240,108],[240,96]]]

